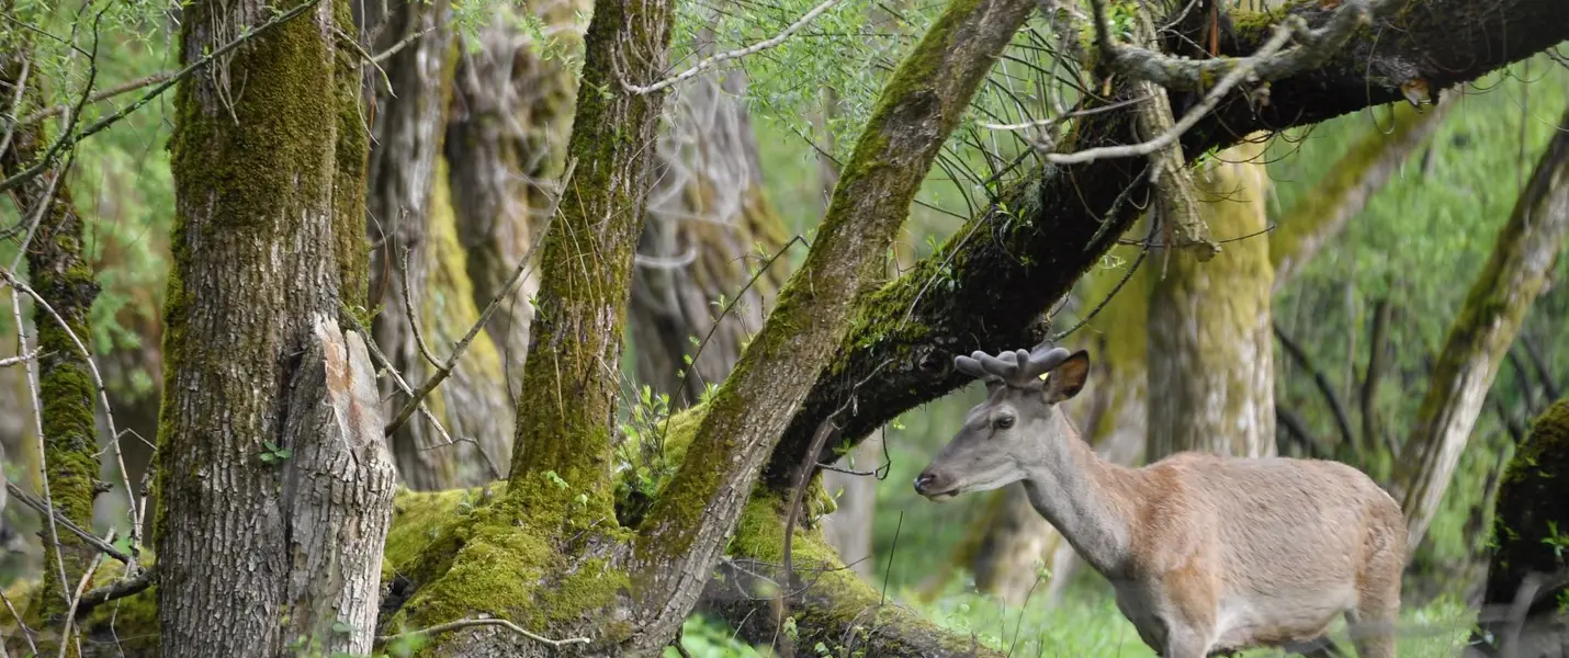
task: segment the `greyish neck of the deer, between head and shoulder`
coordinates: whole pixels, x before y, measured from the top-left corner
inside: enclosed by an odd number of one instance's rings
[[[1061,439],[1048,439],[1045,454],[1026,468],[1029,504],[1062,539],[1103,575],[1117,573],[1128,558],[1131,504],[1127,468],[1100,459],[1062,414]]]

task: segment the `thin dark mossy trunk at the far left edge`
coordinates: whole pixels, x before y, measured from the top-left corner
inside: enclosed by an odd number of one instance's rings
[[[6,9],[11,9],[9,3]],[[0,44],[8,52],[0,55],[0,88],[17,89],[30,49],[14,33],[11,38],[0,38]],[[42,105],[44,94],[38,78],[35,75],[24,88],[24,111]],[[0,152],[0,175],[24,171],[44,155],[52,144],[46,125],[39,122],[14,128],[9,147]],[[83,254],[83,221],[71,199],[66,177],[67,171],[63,166],[46,169],[19,186],[11,197],[17,216],[24,221],[36,218],[36,224],[28,226],[30,233],[24,233],[20,249],[27,254],[28,285],[53,309],[50,313],[42,304],[33,304],[35,337],[19,345],[38,357],[35,363],[24,363],[17,370],[24,376],[38,378],[38,395],[42,401],[44,490],[66,519],[82,528],[93,528],[93,500],[100,484],[96,390],[88,354],[82,349],[85,345],[93,345],[88,315],[99,285]],[[19,291],[11,295],[14,299],[25,298]],[[22,415],[22,418],[31,417],[31,409]],[[96,550],[58,523],[44,523],[41,534],[42,586],[33,594],[28,616],[30,624],[42,624],[42,638],[50,634],[58,638],[75,586],[93,564]],[[46,642],[47,650],[56,645],[55,641]]]

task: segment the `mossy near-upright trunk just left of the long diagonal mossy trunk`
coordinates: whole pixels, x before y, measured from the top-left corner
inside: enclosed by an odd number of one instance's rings
[[[540,255],[544,279],[518,398],[513,483],[551,473],[568,484],[568,497],[582,492],[590,509],[607,515],[617,363],[664,105],[664,94],[631,94],[621,78],[662,75],[673,6],[595,6],[568,143],[574,169]]]

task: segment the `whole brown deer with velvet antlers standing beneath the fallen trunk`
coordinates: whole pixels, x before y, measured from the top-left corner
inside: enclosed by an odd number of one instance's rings
[[[1163,658],[1340,655],[1329,639],[1340,616],[1360,658],[1395,656],[1406,523],[1382,487],[1320,459],[1103,461],[1059,409],[1089,365],[1084,349],[1047,346],[956,357],[987,400],[915,478],[916,494],[941,503],[1023,483]]]

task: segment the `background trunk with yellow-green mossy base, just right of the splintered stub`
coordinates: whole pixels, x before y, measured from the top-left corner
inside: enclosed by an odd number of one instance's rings
[[[377,345],[411,387],[435,374],[453,345],[479,321],[469,293],[466,254],[458,244],[447,194],[442,138],[457,58],[447,2],[399,2],[381,17],[377,50],[424,33],[392,55],[380,75],[369,174],[372,306]],[[406,287],[406,288],[405,288]],[[411,315],[413,312],[413,315]],[[424,342],[424,348],[420,346]],[[391,417],[408,395],[383,381]],[[389,439],[399,475],[411,489],[474,486],[505,475],[511,446],[511,401],[496,346],[475,337],[452,376],[425,398],[444,437],[427,418],[410,418]]]

